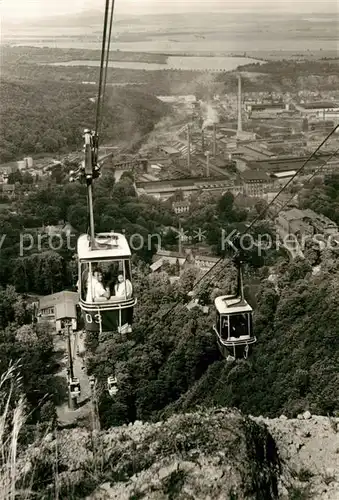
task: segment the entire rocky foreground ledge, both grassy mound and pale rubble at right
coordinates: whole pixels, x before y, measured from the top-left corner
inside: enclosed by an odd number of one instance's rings
[[[27,478],[49,475],[51,498],[58,484],[59,498],[88,500],[334,500],[338,427],[339,419],[309,412],[266,419],[214,409],[96,433],[64,429],[29,448],[20,464]]]

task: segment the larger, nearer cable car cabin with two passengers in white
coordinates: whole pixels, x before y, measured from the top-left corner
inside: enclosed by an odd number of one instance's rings
[[[131,251],[124,235],[100,233],[78,239],[80,307],[87,331],[132,331]]]

